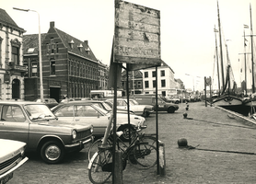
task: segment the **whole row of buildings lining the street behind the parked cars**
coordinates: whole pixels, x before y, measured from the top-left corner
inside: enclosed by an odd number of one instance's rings
[[[26,31],[0,8],[0,94],[2,99],[34,100],[41,98],[39,38]],[[87,98],[90,90],[107,89],[109,66],[101,63],[91,51],[88,41],[56,29],[50,22],[47,33],[41,34],[43,98],[60,101]],[[166,96],[170,88],[184,88],[167,63],[157,68],[158,91]],[[129,93],[154,93],[156,68],[129,73]],[[121,87],[126,95],[126,75]]]

